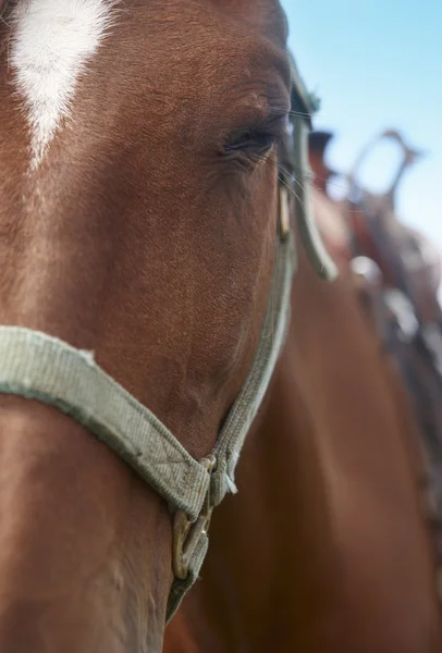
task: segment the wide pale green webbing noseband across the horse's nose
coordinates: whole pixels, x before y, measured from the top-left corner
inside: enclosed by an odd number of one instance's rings
[[[209,475],[148,408],[59,338],[0,326],[0,393],[57,406],[124,458],[175,509],[195,520]]]

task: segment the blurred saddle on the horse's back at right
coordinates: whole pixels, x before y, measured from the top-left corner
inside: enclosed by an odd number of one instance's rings
[[[395,210],[398,184],[419,157],[397,132],[403,161],[382,195],[359,187],[357,171],[375,139],[364,148],[348,174],[349,195],[344,214],[351,232],[352,266],[359,273],[377,331],[393,357],[409,392],[420,427],[419,444],[426,460],[425,505],[442,565],[442,312],[438,300],[441,257],[419,232],[402,224]],[[440,576],[441,571],[439,571]],[[442,592],[442,588],[440,589]],[[442,595],[442,594],[441,594]]]

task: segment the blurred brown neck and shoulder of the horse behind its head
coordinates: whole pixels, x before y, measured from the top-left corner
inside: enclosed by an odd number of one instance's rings
[[[344,217],[317,192],[314,206],[342,275],[323,284],[300,255],[238,496],[164,653],[441,650],[413,415],[360,310]]]

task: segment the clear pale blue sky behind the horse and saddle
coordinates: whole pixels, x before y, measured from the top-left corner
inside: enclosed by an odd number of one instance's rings
[[[368,139],[398,128],[427,151],[404,177],[400,215],[442,251],[442,0],[281,1],[299,72],[322,100],[316,126],[336,133],[329,161],[347,171]],[[396,152],[370,158],[369,188],[388,185]]]

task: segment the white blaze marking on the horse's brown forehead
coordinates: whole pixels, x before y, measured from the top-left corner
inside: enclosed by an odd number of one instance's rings
[[[10,63],[26,102],[32,168],[69,116],[78,75],[111,24],[115,0],[19,0]]]

